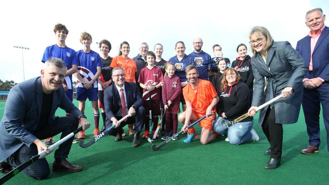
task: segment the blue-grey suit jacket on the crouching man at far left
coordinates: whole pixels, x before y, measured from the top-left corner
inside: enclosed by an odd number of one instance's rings
[[[15,153],[22,145],[30,146],[36,140],[32,133],[39,123],[42,101],[41,77],[21,82],[9,91],[0,123],[0,162]],[[82,115],[65,95],[63,86],[53,92],[48,124],[55,120],[54,115],[58,107],[76,118]]]

